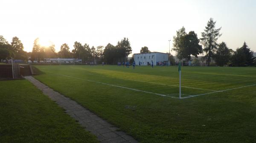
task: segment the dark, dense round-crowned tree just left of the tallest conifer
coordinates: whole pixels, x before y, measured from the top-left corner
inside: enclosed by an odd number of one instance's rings
[[[181,38],[181,48],[179,50],[182,58],[191,61],[191,55],[197,58],[200,53],[203,53],[202,46],[199,45],[199,42],[200,40],[194,31],[190,31],[189,34],[183,36]]]

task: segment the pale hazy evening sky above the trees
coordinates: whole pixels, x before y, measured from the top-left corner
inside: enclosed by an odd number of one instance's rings
[[[246,41],[256,51],[256,0],[1,0],[0,14],[0,35],[17,36],[26,51],[37,37],[56,51],[63,43],[96,47],[128,37],[132,53],[143,46],[167,52],[178,29],[200,38],[210,17],[222,27],[218,42],[235,50]]]

